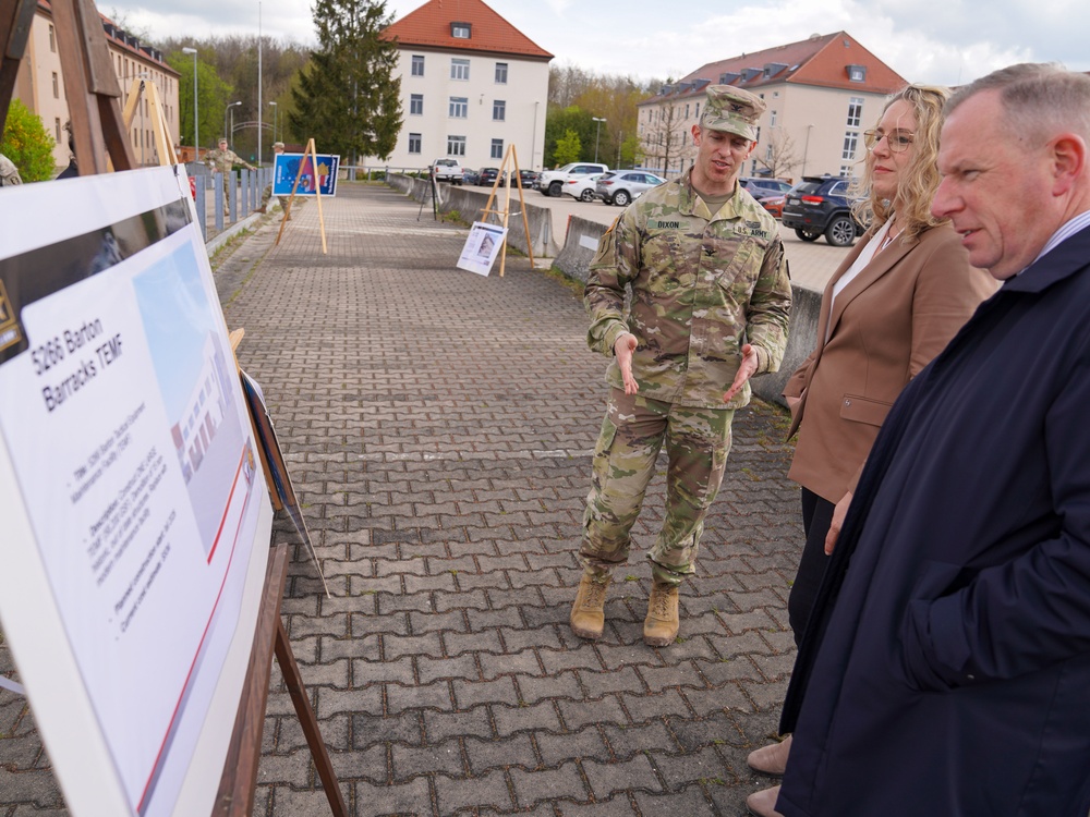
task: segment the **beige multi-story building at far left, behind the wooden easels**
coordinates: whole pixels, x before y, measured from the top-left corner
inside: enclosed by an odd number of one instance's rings
[[[167,129],[170,133],[168,138],[171,144],[177,145],[179,142],[178,72],[164,62],[162,53],[158,49],[142,45],[136,37],[119,28],[108,17],[99,16],[106,34],[110,63],[117,71],[118,84],[121,86],[121,108],[124,109],[134,80],[142,77],[154,82],[162,100]],[[53,148],[53,163],[58,169],[65,167],[69,163],[70,151],[63,126],[69,119],[69,110],[64,97],[64,76],[58,52],[57,32],[53,27],[53,12],[49,0],[38,0],[22,64],[15,78],[13,97],[41,118],[46,130],[57,142]],[[152,133],[152,118],[145,97],[141,100],[129,129],[137,164],[159,163]]]

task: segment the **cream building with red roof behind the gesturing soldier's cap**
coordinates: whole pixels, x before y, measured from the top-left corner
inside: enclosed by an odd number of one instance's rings
[[[845,32],[712,62],[638,106],[644,164],[668,175],[692,164],[690,131],[708,85],[746,88],[767,105],[742,175],[799,179],[857,175],[863,131],[906,81]]]

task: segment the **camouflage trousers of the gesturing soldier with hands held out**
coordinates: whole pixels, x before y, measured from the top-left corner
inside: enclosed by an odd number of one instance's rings
[[[729,408],[690,408],[611,389],[594,448],[583,513],[583,565],[605,576],[628,560],[629,532],[666,447],[663,527],[647,553],[655,582],[679,585],[693,562],[704,515],[723,483],[730,451]]]

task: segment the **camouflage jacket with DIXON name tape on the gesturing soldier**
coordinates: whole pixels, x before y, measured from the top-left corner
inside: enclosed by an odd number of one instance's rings
[[[592,350],[613,356],[626,331],[639,340],[632,374],[642,395],[743,406],[749,383],[723,403],[741,345],[756,350],[759,375],[779,368],[787,345],[791,283],[776,220],[741,187],[710,212],[686,173],[640,196],[602,236],[583,303]],[[616,361],[606,379],[623,388]]]

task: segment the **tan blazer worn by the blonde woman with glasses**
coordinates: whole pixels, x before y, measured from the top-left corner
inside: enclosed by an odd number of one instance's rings
[[[788,437],[799,431],[788,476],[829,502],[855,489],[901,389],[998,288],[986,271],[969,266],[960,239],[945,224],[907,246],[894,240],[879,251],[837,295],[831,314],[833,286],[871,237],[826,284],[818,346],[784,387],[792,414]]]

